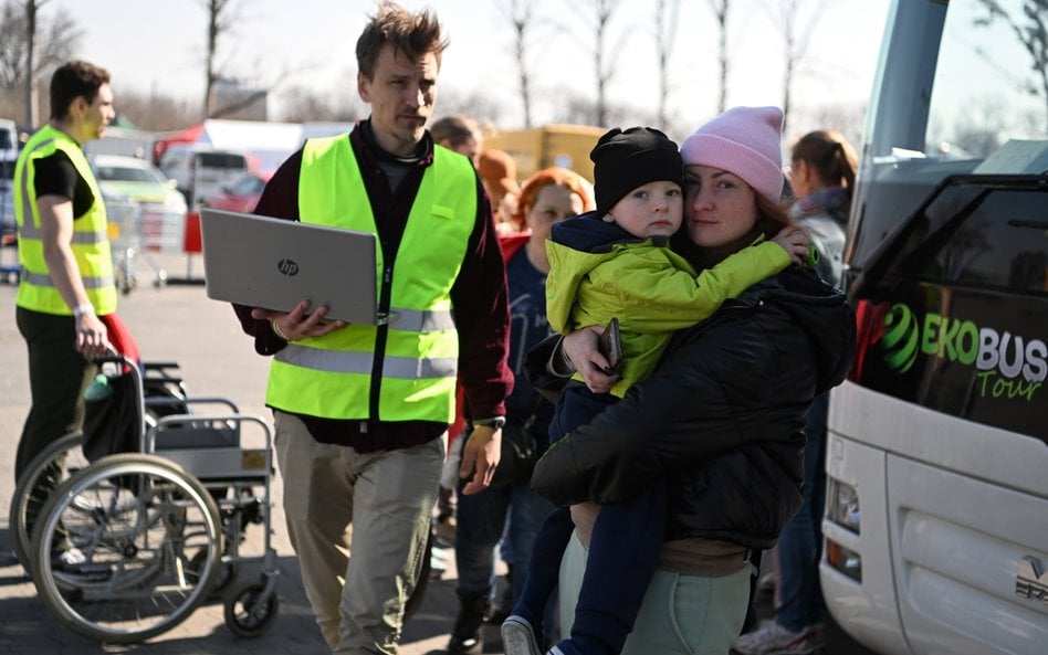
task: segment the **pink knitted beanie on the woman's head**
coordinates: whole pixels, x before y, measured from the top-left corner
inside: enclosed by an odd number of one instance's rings
[[[712,166],[734,173],[772,204],[783,194],[783,110],[732,107],[681,144],[684,166]]]

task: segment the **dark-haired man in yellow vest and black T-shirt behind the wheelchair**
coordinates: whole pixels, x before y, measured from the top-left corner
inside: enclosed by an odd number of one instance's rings
[[[81,149],[113,120],[109,74],[70,62],[51,77],[51,120],[14,167],[21,277],[15,319],[29,348],[32,408],[15,478],[51,442],[80,429],[83,391],[105,352],[101,316],[116,311],[105,205]]]

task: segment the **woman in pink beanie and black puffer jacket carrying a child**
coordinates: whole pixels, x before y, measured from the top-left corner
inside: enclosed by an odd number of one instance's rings
[[[775,107],[736,107],[682,144],[684,226],[673,250],[696,270],[790,224],[779,208],[782,118]],[[590,390],[605,392],[616,378],[604,372],[598,332],[583,328],[563,344]],[[810,268],[790,266],[678,331],[659,368],[554,445],[532,484],[573,505],[562,634],[574,620],[600,505],[664,479],[666,537],[621,652],[727,653],[746,614],[750,553],[773,546],[800,505],[806,411],[843,379],[853,345],[842,294]],[[559,361],[549,355],[532,359]],[[539,378],[539,387],[551,385]]]

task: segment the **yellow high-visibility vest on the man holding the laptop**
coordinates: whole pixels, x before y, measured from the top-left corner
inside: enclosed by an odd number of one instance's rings
[[[338,420],[452,420],[459,338],[451,287],[476,222],[476,178],[468,159],[436,150],[394,261],[376,253],[389,324],[289,344],[273,358],[266,404]],[[347,135],[306,142],[298,212],[304,221],[378,232]]]

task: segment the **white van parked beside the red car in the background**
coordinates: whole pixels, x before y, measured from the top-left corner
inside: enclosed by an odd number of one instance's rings
[[[196,144],[177,144],[164,151],[158,165],[174,179],[190,207],[203,203],[222,192],[248,172],[248,157],[242,152],[213,150]]]

